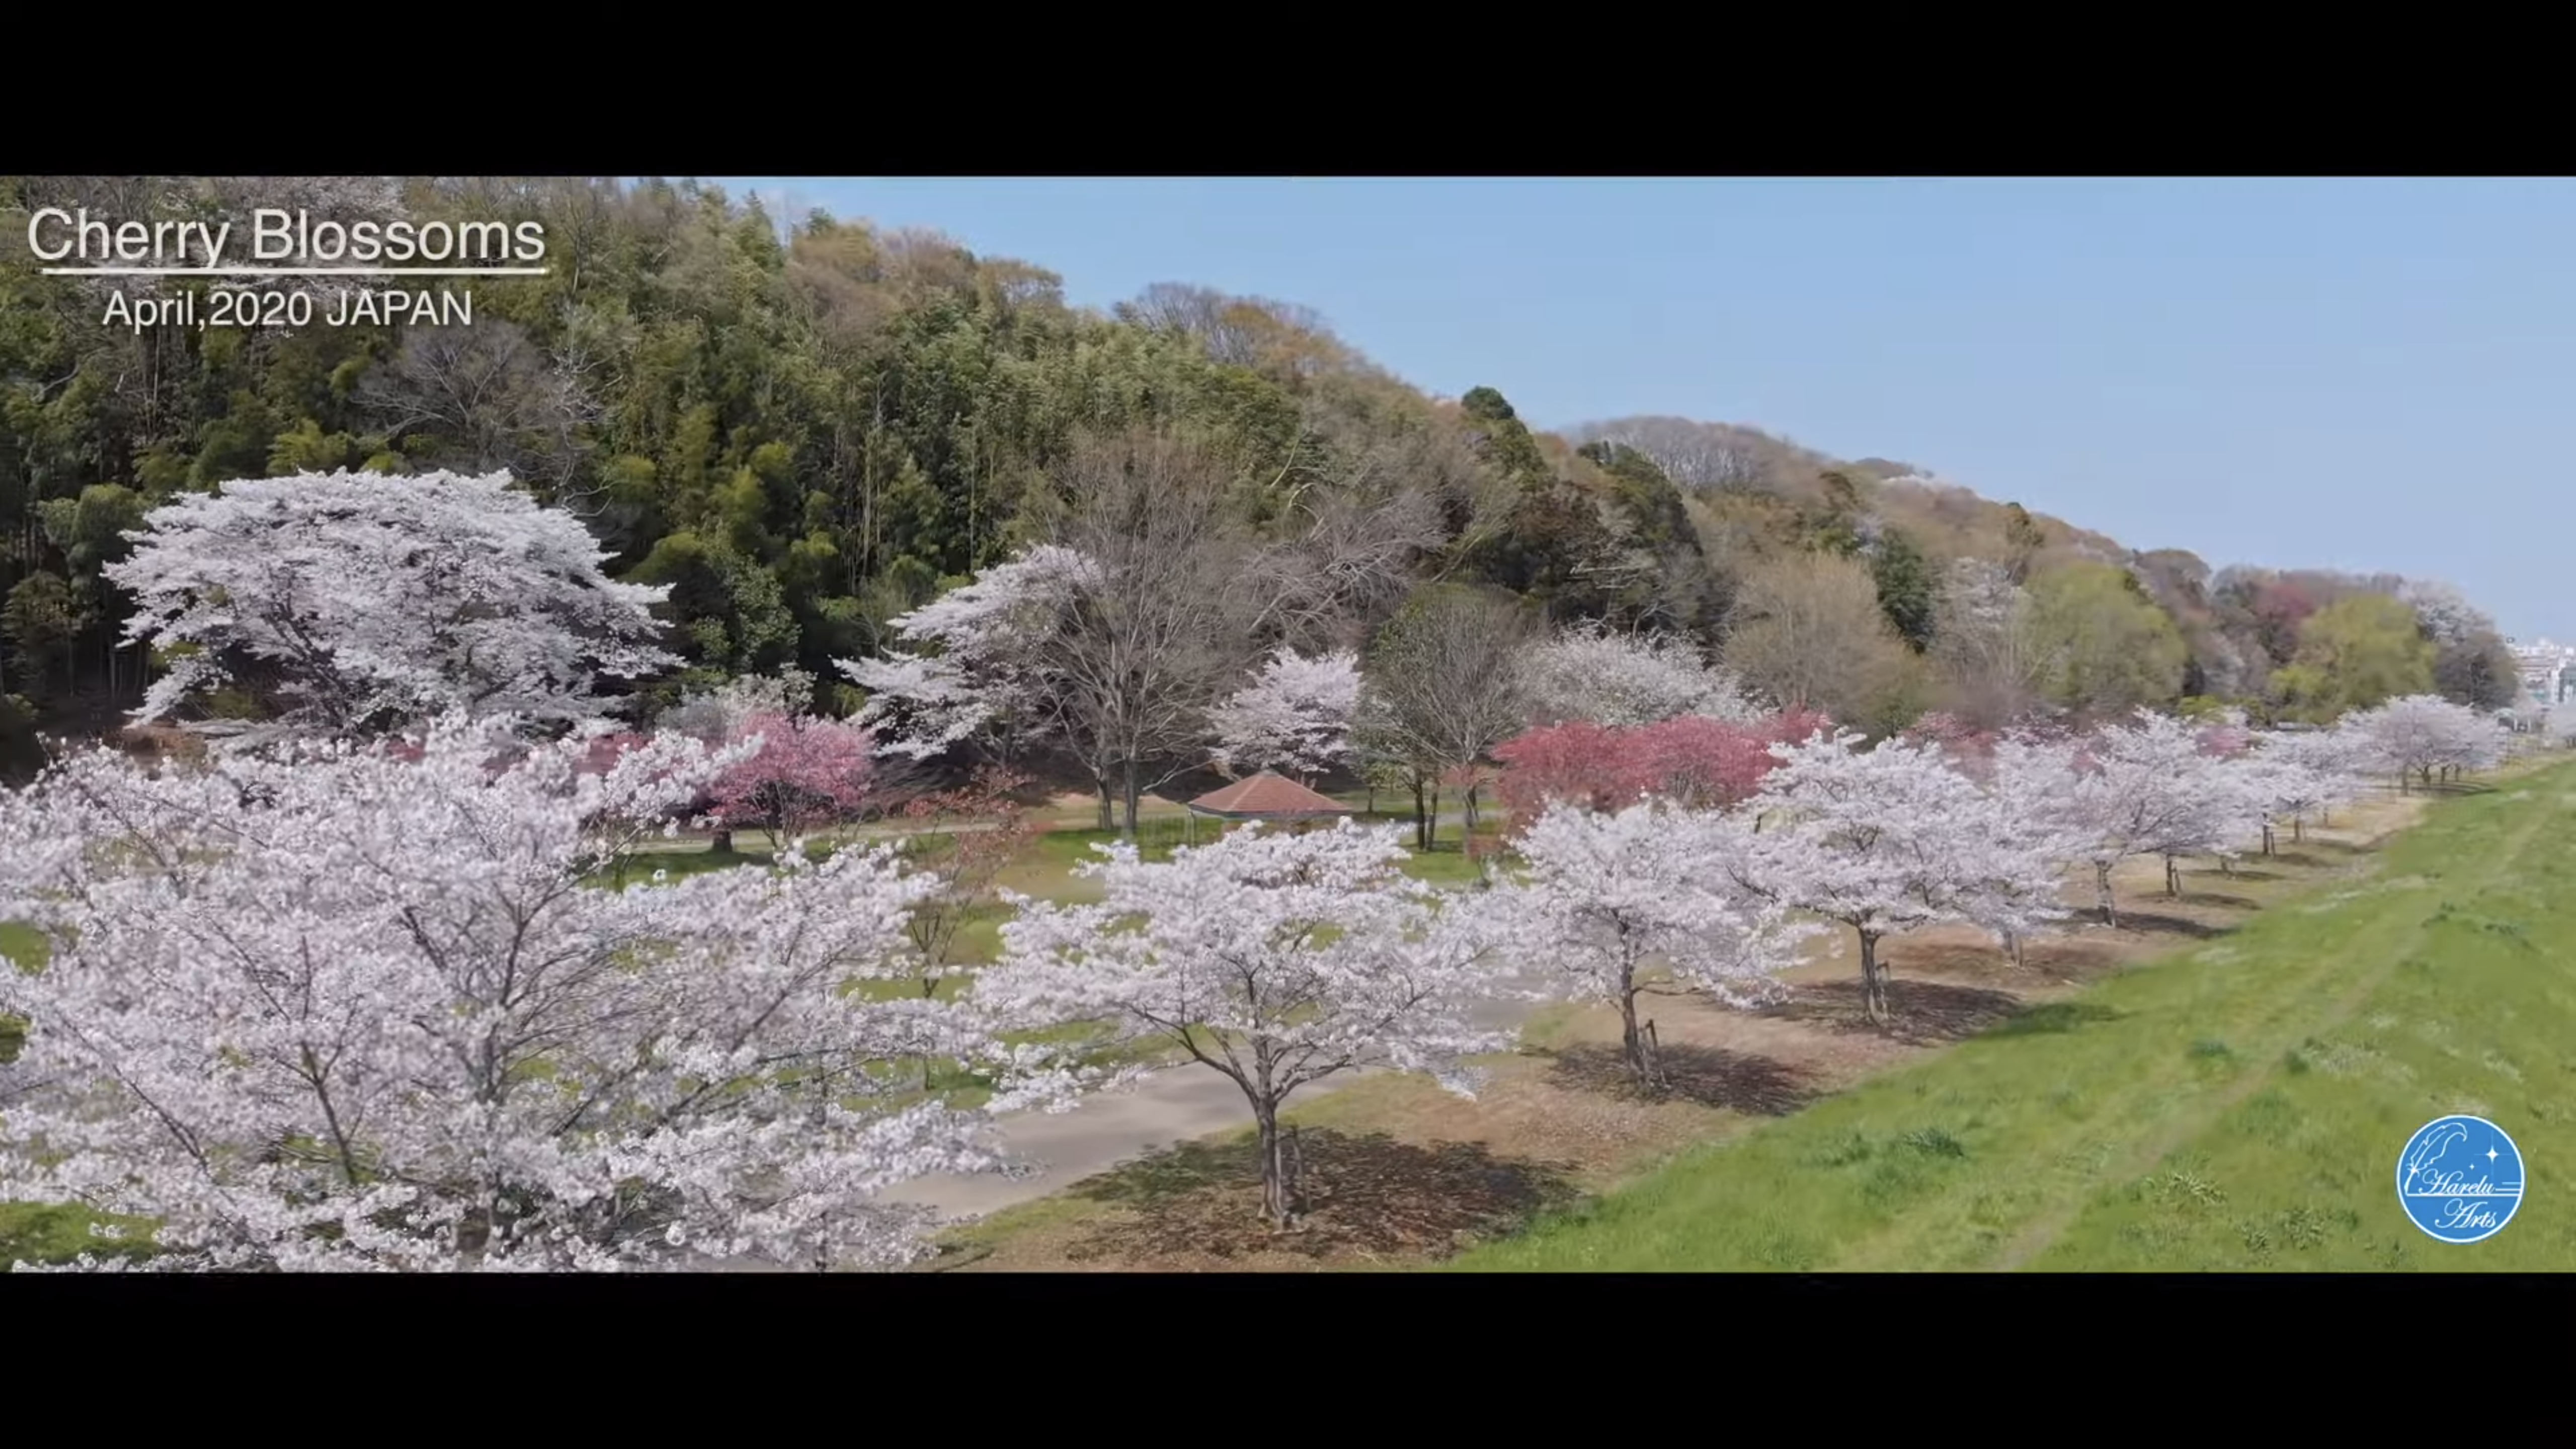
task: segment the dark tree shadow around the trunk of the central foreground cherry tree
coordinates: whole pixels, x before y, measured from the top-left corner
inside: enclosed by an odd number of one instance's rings
[[[1481,1142],[1396,1142],[1383,1132],[1301,1132],[1303,1222],[1273,1232],[1260,1217],[1252,1140],[1185,1142],[1069,1189],[1123,1209],[1066,1245],[1074,1263],[1157,1258],[1386,1258],[1450,1253],[1574,1201],[1571,1163],[1497,1158]]]

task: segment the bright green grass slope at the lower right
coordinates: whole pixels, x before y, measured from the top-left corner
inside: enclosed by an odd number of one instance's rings
[[[2035,1006],[1486,1243],[1461,1271],[2550,1271],[2576,1263],[2576,766],[2437,802],[2378,869]],[[2445,1245],[2396,1201],[2442,1114],[2535,1199]]]

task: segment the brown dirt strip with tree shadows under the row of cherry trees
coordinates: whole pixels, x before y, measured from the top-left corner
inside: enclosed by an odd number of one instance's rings
[[[1252,1145],[1208,1140],[963,1227],[925,1269],[1319,1271],[1440,1258],[2130,962],[2223,933],[2285,892],[2367,869],[2370,848],[2421,804],[2421,797],[2367,802],[2331,830],[2308,830],[2303,843],[2285,833],[2275,856],[2246,856],[2233,871],[2190,861],[2179,900],[2164,897],[2161,861],[2128,861],[2115,877],[2120,928],[2071,920],[2027,941],[2022,964],[1965,928],[1891,938],[1880,949],[1891,967],[1891,1029],[1862,1021],[1847,936],[1788,972],[1793,995],[1772,1008],[1726,1011],[1656,990],[1641,1000],[1641,1016],[1654,1021],[1672,1075],[1662,1098],[1628,1085],[1610,1008],[1533,1018],[1520,1052],[1492,1065],[1476,1101],[1399,1075],[1345,1085],[1291,1114],[1309,1199],[1296,1232],[1260,1222]],[[2089,884],[2071,879],[2066,902],[2087,908]]]

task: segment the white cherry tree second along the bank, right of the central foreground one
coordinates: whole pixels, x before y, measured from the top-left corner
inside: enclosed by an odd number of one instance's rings
[[[1636,1016],[1643,972],[1728,1006],[1780,995],[1777,972],[1798,964],[1814,931],[1739,877],[1752,822],[1713,810],[1641,802],[1618,812],[1551,807],[1517,843],[1520,879],[1486,897],[1489,926],[1571,1000],[1607,1000],[1638,1085],[1662,1088]]]

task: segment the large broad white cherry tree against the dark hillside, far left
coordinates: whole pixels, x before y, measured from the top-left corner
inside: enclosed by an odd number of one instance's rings
[[[677,660],[654,639],[667,590],[613,583],[582,521],[510,474],[296,474],[227,482],[144,516],[106,578],[134,593],[126,637],[165,655],[137,719],[268,696],[234,743],[371,737],[464,709],[562,724],[608,712],[605,678]]]

